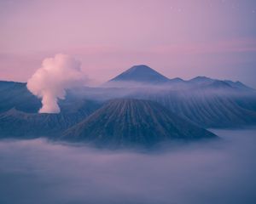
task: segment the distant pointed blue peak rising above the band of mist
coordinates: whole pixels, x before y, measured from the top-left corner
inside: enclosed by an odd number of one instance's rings
[[[140,82],[158,84],[169,82],[169,79],[161,75],[159,72],[154,71],[147,65],[135,65],[122,72],[117,77],[114,77],[109,82]]]

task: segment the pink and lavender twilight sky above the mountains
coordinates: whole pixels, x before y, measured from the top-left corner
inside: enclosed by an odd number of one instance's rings
[[[0,0],[0,79],[26,82],[57,53],[95,82],[145,64],[256,88],[256,1]]]

